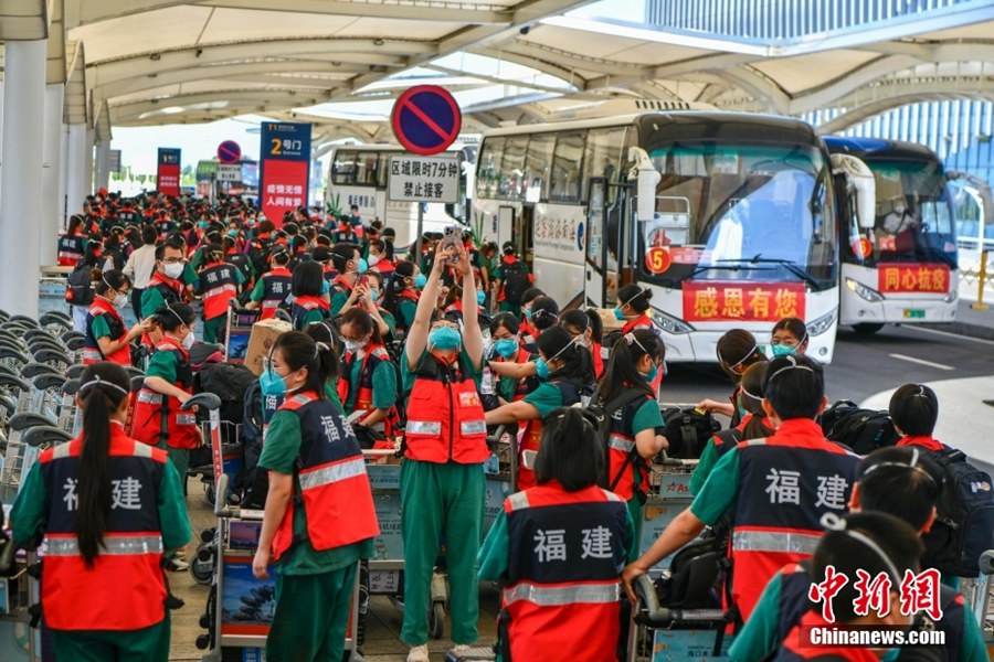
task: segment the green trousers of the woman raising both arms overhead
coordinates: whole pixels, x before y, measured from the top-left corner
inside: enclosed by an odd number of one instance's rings
[[[401,465],[401,533],[404,540],[404,624],[401,640],[427,643],[432,570],[445,537],[451,590],[452,641],[479,637],[477,553],[483,533],[486,477],[483,465]]]

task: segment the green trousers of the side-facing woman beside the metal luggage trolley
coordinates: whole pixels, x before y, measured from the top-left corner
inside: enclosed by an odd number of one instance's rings
[[[266,662],[341,662],[356,568],[317,575],[276,574],[276,613]]]

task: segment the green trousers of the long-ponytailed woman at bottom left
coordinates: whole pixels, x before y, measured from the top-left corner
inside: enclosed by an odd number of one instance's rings
[[[52,630],[56,660],[107,662],[108,660],[169,660],[169,610],[155,626],[140,630]]]

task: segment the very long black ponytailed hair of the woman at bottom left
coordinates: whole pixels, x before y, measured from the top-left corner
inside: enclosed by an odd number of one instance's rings
[[[97,383],[99,382],[99,383]],[[110,514],[110,415],[130,395],[124,367],[109,361],[86,366],[80,375],[83,403],[83,449],[76,474],[77,509],[73,533],[87,568],[99,554]]]

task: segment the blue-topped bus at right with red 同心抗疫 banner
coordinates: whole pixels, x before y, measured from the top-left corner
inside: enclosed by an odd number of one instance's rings
[[[890,322],[955,321],[956,216],[939,157],[897,140],[829,136],[825,145],[860,159],[876,180],[867,225],[840,223],[839,323],[875,333]]]

